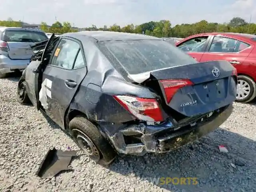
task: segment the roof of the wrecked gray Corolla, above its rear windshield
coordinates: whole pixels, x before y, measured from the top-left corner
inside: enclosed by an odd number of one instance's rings
[[[90,36],[98,41],[114,41],[114,40],[161,40],[153,36],[124,33],[124,32],[113,32],[113,31],[80,31],[63,34],[63,36],[70,36],[79,38],[79,36]]]

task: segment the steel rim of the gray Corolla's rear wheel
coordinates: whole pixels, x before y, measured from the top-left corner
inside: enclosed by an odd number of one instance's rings
[[[72,130],[72,136],[76,139],[78,146],[84,151],[84,153],[94,161],[100,160],[100,152],[92,140],[78,129]]]

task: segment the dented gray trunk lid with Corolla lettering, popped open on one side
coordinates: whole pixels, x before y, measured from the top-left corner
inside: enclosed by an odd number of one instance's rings
[[[213,70],[219,72],[214,76]],[[209,61],[183,66],[175,66],[132,76],[142,81],[148,79],[158,81],[165,105],[185,116],[192,117],[212,112],[232,103],[236,99],[235,68],[227,61]],[[190,80],[193,85],[184,86],[176,91],[170,102],[166,101],[166,94],[161,80]],[[154,89],[154,87],[151,87]]]

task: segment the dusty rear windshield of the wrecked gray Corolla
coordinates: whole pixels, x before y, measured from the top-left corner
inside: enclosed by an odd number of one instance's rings
[[[196,63],[188,54],[162,40],[106,41],[100,42],[99,48],[112,64],[118,63],[128,74]]]

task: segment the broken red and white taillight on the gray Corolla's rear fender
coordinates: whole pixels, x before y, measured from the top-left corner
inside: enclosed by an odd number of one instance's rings
[[[114,96],[114,98],[136,118],[144,121],[163,121],[162,112],[156,99],[132,96]]]

